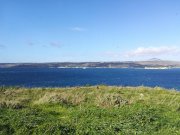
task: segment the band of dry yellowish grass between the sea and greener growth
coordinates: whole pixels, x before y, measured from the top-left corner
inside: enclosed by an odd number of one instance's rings
[[[149,87],[92,86],[73,88],[7,88],[0,91],[0,104],[92,104],[101,107],[120,107],[144,104],[180,107],[180,93],[174,90]]]

